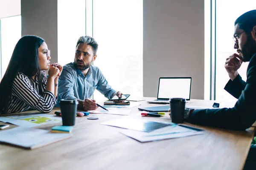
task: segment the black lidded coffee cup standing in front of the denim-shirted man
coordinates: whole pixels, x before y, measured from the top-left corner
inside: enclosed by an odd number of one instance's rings
[[[76,99],[61,99],[61,118],[63,126],[73,126],[76,122],[76,110],[78,101]]]

